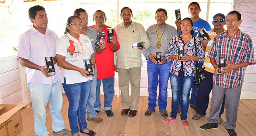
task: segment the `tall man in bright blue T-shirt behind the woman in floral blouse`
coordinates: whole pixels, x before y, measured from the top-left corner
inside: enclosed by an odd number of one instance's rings
[[[194,24],[194,28],[193,28],[194,35],[193,36],[196,37],[197,34],[198,34],[198,30],[201,29],[202,27],[204,27],[206,31],[211,30],[211,26],[209,25],[209,23],[199,17],[199,13],[201,12],[201,9],[200,9],[200,5],[197,2],[190,3],[188,5],[188,10],[189,10],[190,18],[192,19],[193,24]],[[181,20],[179,20],[179,21],[176,20],[175,24],[177,26],[177,32],[181,34],[181,31],[180,31]],[[201,38],[199,35],[198,35],[198,37]],[[203,61],[201,63],[199,63],[200,69],[202,68],[202,65],[203,65]],[[195,107],[196,107],[195,104],[196,104],[198,89],[199,89],[199,85],[196,85],[196,84],[192,85],[192,94],[191,94],[191,99],[190,99],[190,107],[194,110],[195,110]],[[179,103],[177,113],[180,113],[180,111],[181,111],[181,99],[180,99],[180,103]]]

